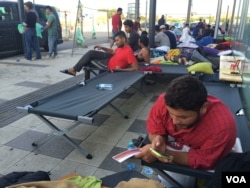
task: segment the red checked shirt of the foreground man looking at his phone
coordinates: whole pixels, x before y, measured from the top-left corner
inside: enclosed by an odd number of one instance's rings
[[[149,113],[148,132],[172,136],[177,142],[189,146],[190,167],[213,169],[235,144],[236,123],[231,111],[219,99],[208,96],[208,109],[201,120],[194,127],[176,131],[164,97],[165,94],[160,95]]]

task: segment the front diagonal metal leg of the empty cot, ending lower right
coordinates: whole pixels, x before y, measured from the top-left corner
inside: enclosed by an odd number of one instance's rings
[[[48,119],[46,119],[42,115],[37,115],[43,122],[45,122],[52,130],[58,133],[58,135],[62,136],[65,140],[67,140],[76,150],[78,150],[82,155],[84,155],[87,159],[92,159],[92,155],[78,146],[68,135],[66,135],[63,130],[59,129],[57,126],[55,126],[53,123],[51,123]],[[36,144],[36,143],[33,143]]]

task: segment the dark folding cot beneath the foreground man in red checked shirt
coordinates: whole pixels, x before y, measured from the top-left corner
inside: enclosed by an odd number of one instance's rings
[[[242,108],[242,102],[239,95],[238,88],[231,88],[229,84],[225,83],[204,83],[206,86],[208,93],[220,98],[235,114],[239,109]],[[237,137],[240,139],[242,150],[249,151],[250,150],[250,128],[247,125],[247,120],[245,116],[236,116],[236,123],[237,123]],[[145,142],[148,142],[146,140]],[[170,182],[177,185],[178,187],[182,187],[174,178],[169,176],[165,173],[165,171],[171,171],[183,175],[193,176],[197,178],[204,178],[204,179],[211,179],[213,172],[199,170],[199,169],[192,169],[189,167],[171,164],[171,163],[162,163],[156,161],[154,163],[146,163],[142,161],[142,165],[149,166],[154,168],[159,174],[163,175],[167,178]]]

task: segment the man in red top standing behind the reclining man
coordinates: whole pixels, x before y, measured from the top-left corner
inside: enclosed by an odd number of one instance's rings
[[[110,43],[110,48],[113,47],[115,43],[115,34],[121,31],[122,28],[122,8],[118,8],[115,15],[112,16],[112,41]]]

